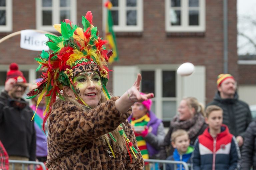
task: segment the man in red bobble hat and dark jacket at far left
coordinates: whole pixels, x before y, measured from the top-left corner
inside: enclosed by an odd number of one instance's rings
[[[23,73],[18,70],[16,63],[11,63],[4,91],[0,94],[0,140],[10,160],[35,161],[36,135],[34,121],[31,121],[33,111],[22,98],[26,88]],[[16,169],[22,169],[22,166],[15,165]]]

